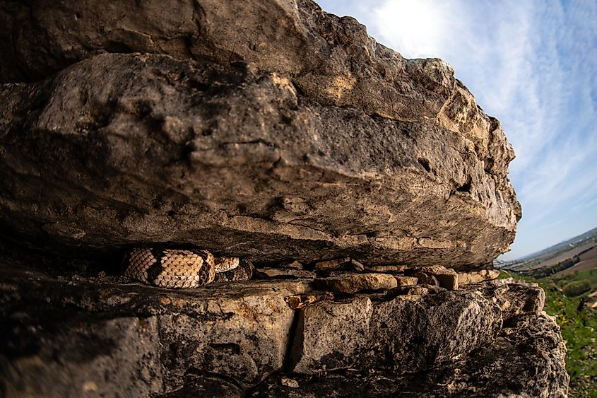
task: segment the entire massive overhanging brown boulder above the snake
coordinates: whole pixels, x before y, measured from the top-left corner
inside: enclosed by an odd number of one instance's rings
[[[2,228],[261,262],[474,269],[507,250],[512,148],[449,66],[311,1],[160,7],[0,6],[2,78],[47,78],[0,88]],[[100,54],[134,51],[167,55]]]

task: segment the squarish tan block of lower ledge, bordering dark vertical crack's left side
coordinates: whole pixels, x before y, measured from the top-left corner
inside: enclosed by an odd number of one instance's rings
[[[256,289],[247,295],[185,302],[201,310],[160,316],[167,380],[182,380],[196,368],[246,388],[282,368],[294,313],[283,293]]]

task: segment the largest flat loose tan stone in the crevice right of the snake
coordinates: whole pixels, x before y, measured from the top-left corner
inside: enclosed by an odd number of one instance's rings
[[[396,278],[389,274],[345,274],[315,279],[316,286],[334,293],[354,294],[360,291],[380,291],[396,288]]]

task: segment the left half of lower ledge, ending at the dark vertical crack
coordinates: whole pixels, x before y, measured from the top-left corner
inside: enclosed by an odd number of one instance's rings
[[[295,313],[285,297],[305,291],[292,281],[175,291],[20,265],[0,268],[0,379],[13,396],[149,395],[191,374],[250,387],[283,368]]]

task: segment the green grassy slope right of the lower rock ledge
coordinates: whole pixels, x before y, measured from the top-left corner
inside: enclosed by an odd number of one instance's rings
[[[556,274],[541,279],[509,275],[538,283],[545,290],[545,312],[555,316],[567,341],[566,369],[569,397],[597,398],[597,309],[588,308],[591,291],[597,290],[597,269]]]

